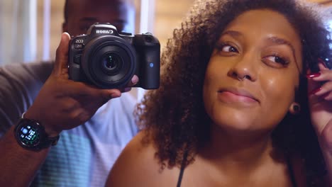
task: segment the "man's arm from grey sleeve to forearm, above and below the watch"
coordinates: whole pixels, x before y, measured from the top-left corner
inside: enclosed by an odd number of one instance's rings
[[[18,145],[14,125],[52,72],[52,62],[9,64],[0,69],[0,184],[28,186],[48,149],[31,152]],[[14,181],[15,180],[15,181]]]

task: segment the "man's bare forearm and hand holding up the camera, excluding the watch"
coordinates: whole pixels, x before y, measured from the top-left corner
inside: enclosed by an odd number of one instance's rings
[[[69,40],[67,33],[62,34],[52,74],[24,115],[38,120],[49,137],[83,124],[109,99],[121,96],[118,89],[96,89],[68,79]],[[136,83],[137,77],[132,81]],[[48,149],[39,152],[24,149],[18,145],[11,128],[0,140],[0,152],[0,186],[28,186],[47,157]]]

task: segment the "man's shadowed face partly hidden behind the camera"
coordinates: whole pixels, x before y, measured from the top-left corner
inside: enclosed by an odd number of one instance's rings
[[[117,0],[68,0],[67,23],[62,30],[70,35],[87,33],[93,23],[111,23],[118,31],[133,33],[135,9]]]

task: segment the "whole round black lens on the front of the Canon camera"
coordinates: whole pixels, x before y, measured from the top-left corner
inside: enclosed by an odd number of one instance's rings
[[[113,35],[90,40],[82,53],[84,75],[103,89],[125,87],[135,73],[136,63],[131,44]]]

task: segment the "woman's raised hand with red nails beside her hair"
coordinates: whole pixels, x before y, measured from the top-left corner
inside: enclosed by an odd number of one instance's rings
[[[332,70],[319,63],[320,72],[308,76],[309,108],[321,149],[332,154]]]

